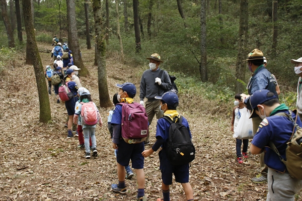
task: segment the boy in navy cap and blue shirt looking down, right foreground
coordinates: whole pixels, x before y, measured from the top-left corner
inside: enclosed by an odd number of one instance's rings
[[[250,118],[259,116],[262,120],[250,147],[252,154],[264,152],[264,162],[268,167],[266,200],[294,200],[294,194],[302,188],[302,180],[289,175],[286,166],[278,155],[270,148],[271,141],[278,149],[280,155],[286,160],[285,150],[287,142],[294,131],[294,125],[287,117],[278,116],[278,113],[289,115],[288,107],[279,104],[277,96],[266,89],[255,91],[249,102],[253,109]],[[296,113],[291,113],[293,120],[299,127],[302,126]],[[282,126],[280,126],[282,125]]]

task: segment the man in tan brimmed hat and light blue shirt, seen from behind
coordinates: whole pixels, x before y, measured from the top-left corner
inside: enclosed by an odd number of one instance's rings
[[[270,73],[264,67],[264,56],[263,53],[258,50],[254,49],[252,52],[248,54],[248,58],[244,61],[248,61],[249,70],[253,73],[250,82],[248,83],[248,93],[252,95],[255,91],[260,89],[267,89],[275,94],[278,98],[278,94],[276,92],[276,80],[272,73]],[[265,58],[267,59],[267,58]],[[245,105],[249,110],[252,110],[251,105],[249,103],[250,98],[247,97],[244,100]],[[254,134],[256,133],[259,124],[261,123],[262,119],[259,117],[254,117],[253,121],[253,131]],[[257,175],[255,178],[252,179],[254,183],[263,183],[267,181],[267,166],[264,163],[264,153],[260,155],[260,172],[261,174]]]

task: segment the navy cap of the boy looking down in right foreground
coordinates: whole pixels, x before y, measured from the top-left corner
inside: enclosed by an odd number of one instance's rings
[[[254,117],[258,117],[258,115],[256,114],[256,110],[257,110],[257,106],[260,104],[263,104],[264,102],[266,102],[267,100],[270,99],[274,99],[277,98],[276,95],[273,96],[267,96],[267,93],[271,92],[267,89],[261,89],[261,90],[257,90],[255,91],[249,99],[249,103],[253,109],[252,114],[250,116],[250,118],[254,118]]]

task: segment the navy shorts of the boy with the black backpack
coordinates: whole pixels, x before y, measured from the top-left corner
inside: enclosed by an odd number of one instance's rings
[[[160,151],[159,157],[162,180],[164,184],[172,184],[172,174],[174,174],[175,181],[178,183],[189,182],[189,163],[185,165],[171,165],[164,150]]]

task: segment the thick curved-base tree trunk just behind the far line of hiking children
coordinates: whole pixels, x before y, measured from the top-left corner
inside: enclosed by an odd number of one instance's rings
[[[85,67],[79,46],[77,21],[75,20],[75,1],[66,0],[67,5],[67,22],[68,22],[68,45],[72,51],[73,62],[75,66],[81,68],[79,73],[82,76],[89,76],[89,71]]]

